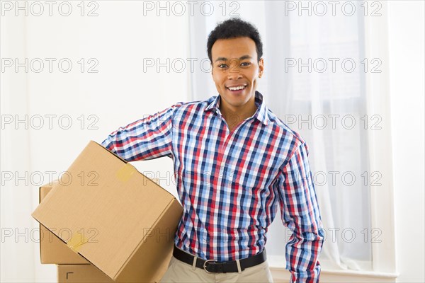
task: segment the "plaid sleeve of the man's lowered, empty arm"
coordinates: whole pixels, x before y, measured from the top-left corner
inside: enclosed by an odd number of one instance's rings
[[[307,156],[307,144],[297,146],[283,164],[277,182],[282,221],[293,231],[286,244],[286,269],[291,273],[291,283],[319,282],[321,270],[317,258],[324,231]]]

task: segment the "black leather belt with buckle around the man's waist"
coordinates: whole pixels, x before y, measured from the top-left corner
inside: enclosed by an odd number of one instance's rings
[[[186,262],[188,265],[193,265],[193,258],[195,257],[190,253],[186,253],[184,250],[177,248],[176,245],[174,245],[173,255],[174,258],[177,258],[182,262]],[[259,265],[261,262],[265,262],[266,259],[265,248],[261,253],[257,253],[249,258],[242,258],[239,260],[241,271],[245,268]],[[196,267],[203,269],[208,273],[238,272],[236,260],[217,262],[215,260],[203,260],[202,258],[196,258]]]

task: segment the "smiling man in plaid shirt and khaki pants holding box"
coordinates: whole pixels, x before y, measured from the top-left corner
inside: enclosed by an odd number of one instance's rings
[[[319,282],[324,233],[307,144],[256,91],[259,32],[232,18],[207,45],[218,96],[176,103],[103,141],[127,161],[174,161],[183,216],[162,282],[273,282],[264,246],[278,207],[293,231],[290,281]]]

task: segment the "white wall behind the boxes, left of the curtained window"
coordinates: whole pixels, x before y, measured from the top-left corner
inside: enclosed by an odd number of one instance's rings
[[[40,115],[45,123],[41,129],[35,129],[39,120],[29,122],[28,129],[24,124],[16,129],[12,123],[1,132],[1,171],[14,176],[15,172],[19,176],[28,174],[18,185],[13,178],[1,187],[1,228],[12,229],[14,233],[11,237],[2,235],[1,282],[56,282],[55,265],[40,264],[37,235],[31,234],[38,228],[30,214],[38,204],[40,185],[38,179],[25,184],[31,174],[39,172],[44,178],[41,183],[47,183],[46,172],[55,171],[53,176],[57,178],[89,140],[100,143],[120,126],[177,101],[190,100],[187,68],[169,74],[164,69],[160,73],[155,68],[147,72],[142,69],[143,58],[161,58],[166,62],[167,57],[188,57],[186,17],[158,17],[154,13],[143,16],[142,3],[133,1],[97,1],[98,16],[81,17],[79,3],[72,1],[73,13],[67,17],[60,16],[57,9],[53,9],[52,17],[46,11],[38,17],[17,17],[14,11],[1,17],[1,57],[18,58],[19,62],[40,58],[45,62],[40,73],[32,69],[26,73],[23,68],[16,73],[8,68],[1,74],[1,115],[19,115],[19,119],[28,115],[29,121]],[[52,73],[45,58],[57,59]],[[69,73],[57,67],[62,58],[69,58],[73,64]],[[87,60],[95,58],[98,73],[81,73],[81,58],[85,59],[86,67],[91,66]],[[69,115],[72,127],[63,129],[67,123],[63,120],[58,125],[55,117],[49,129],[45,115]],[[83,129],[81,115],[85,116]],[[98,129],[88,128],[89,122],[95,121],[88,120],[89,115],[97,117],[94,126]],[[170,158],[133,164],[142,173],[159,172],[155,178],[168,176],[160,183],[177,196]],[[16,233],[24,236],[16,239]]]

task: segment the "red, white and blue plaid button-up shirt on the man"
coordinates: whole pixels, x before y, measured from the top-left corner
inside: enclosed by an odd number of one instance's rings
[[[232,132],[220,96],[212,96],[120,127],[102,145],[126,161],[173,159],[183,205],[178,248],[217,261],[255,255],[280,207],[293,231],[286,244],[290,281],[318,282],[324,233],[307,144],[266,107],[261,93],[255,96],[255,114]]]

